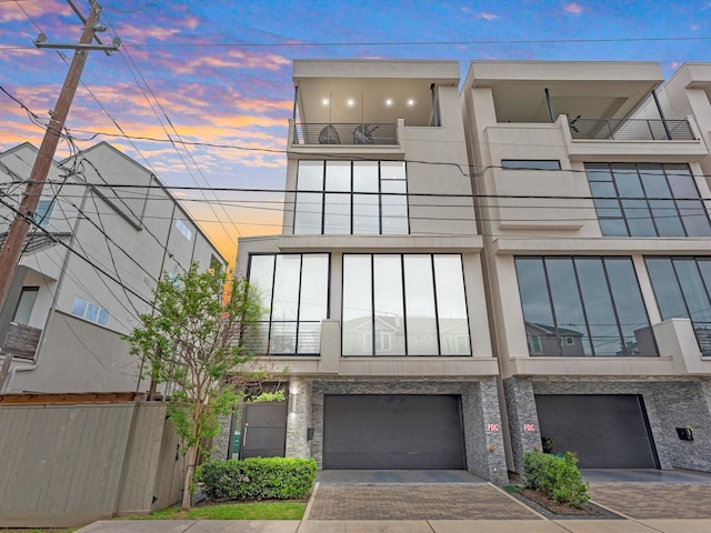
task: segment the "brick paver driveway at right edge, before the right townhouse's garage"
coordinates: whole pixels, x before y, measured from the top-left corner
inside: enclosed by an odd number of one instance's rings
[[[711,483],[595,483],[590,495],[633,519],[711,519]]]

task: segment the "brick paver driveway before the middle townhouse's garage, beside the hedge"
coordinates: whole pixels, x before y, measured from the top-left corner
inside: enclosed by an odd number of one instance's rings
[[[309,520],[539,520],[489,484],[321,484]]]

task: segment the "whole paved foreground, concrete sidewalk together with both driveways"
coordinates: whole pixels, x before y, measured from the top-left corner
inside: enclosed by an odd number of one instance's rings
[[[547,517],[467,472],[320,473],[301,521],[101,521],[78,533],[709,533],[711,475],[583,472],[617,515]]]

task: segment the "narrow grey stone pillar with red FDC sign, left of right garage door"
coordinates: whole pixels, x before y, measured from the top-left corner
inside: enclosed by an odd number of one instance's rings
[[[541,430],[533,396],[533,383],[519,378],[508,378],[503,380],[503,393],[509,416],[513,470],[523,474],[523,453],[541,450]],[[525,431],[524,424],[532,424],[534,431]]]

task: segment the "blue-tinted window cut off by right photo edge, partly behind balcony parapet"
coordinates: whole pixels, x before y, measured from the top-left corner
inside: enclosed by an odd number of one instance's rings
[[[662,319],[690,319],[701,353],[711,356],[711,258],[648,258],[647,270]]]

